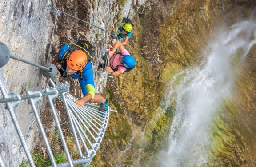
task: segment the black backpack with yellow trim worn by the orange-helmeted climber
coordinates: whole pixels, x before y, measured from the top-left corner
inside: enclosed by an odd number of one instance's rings
[[[71,45],[65,44],[61,47],[60,54],[63,55],[63,57],[60,60],[60,64],[63,68],[65,68],[67,65],[68,56],[76,50],[82,50],[86,53],[87,62],[91,62],[91,60],[93,59],[95,51],[93,45],[86,40],[78,40]],[[82,77],[83,70],[79,70],[76,73],[79,74],[80,77]]]

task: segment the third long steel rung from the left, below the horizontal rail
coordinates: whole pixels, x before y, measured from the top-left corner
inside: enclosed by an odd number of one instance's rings
[[[50,90],[49,89],[46,89],[46,92],[49,92]],[[57,90],[56,90],[57,91]],[[60,140],[61,140],[61,143],[63,144],[63,148],[64,148],[64,151],[67,155],[67,159],[68,159],[68,163],[71,167],[73,167],[73,164],[72,164],[72,160],[71,160],[71,157],[70,157],[70,154],[68,152],[68,147],[67,147],[67,143],[64,139],[64,135],[63,135],[63,132],[62,132],[62,129],[60,127],[60,123],[59,123],[59,120],[58,120],[58,116],[56,114],[56,111],[55,111],[55,108],[53,106],[53,103],[52,103],[52,97],[51,96],[47,96],[47,99],[48,99],[48,103],[51,107],[51,110],[52,110],[52,115],[53,115],[53,118],[56,122],[56,126],[57,126],[57,129],[58,129],[58,132],[59,132],[59,135],[60,135]]]

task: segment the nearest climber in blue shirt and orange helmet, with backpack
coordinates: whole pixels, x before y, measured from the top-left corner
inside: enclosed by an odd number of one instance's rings
[[[78,107],[83,107],[86,102],[101,103],[99,111],[106,112],[108,110],[108,98],[95,93],[92,63],[90,62],[93,55],[93,45],[88,41],[79,40],[72,45],[63,45],[52,64],[60,63],[61,69],[58,70],[61,76],[78,79],[84,95],[83,98],[75,101]]]

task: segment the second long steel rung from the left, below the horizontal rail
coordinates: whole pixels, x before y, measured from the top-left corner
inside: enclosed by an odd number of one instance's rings
[[[28,94],[30,94],[30,93],[31,93],[31,92],[28,91]],[[40,92],[39,92],[38,94],[42,96],[42,94],[41,94]],[[32,99],[32,98],[29,99],[29,101],[30,101],[31,107],[32,107],[32,109],[33,109],[33,111],[34,111],[34,115],[35,115],[35,118],[36,118],[36,122],[37,122],[37,125],[38,125],[38,127],[39,127],[39,129],[40,129],[40,131],[41,131],[41,135],[42,135],[42,138],[43,138],[43,140],[44,140],[44,144],[45,144],[45,146],[46,146],[46,149],[47,149],[49,158],[50,158],[50,160],[51,160],[52,166],[53,166],[53,167],[56,167],[56,162],[55,162],[54,156],[53,156],[53,154],[52,154],[52,150],[51,150],[50,144],[49,144],[48,139],[47,139],[47,137],[46,137],[46,134],[45,134],[45,132],[44,132],[44,126],[43,126],[43,124],[42,124],[42,122],[41,122],[41,119],[40,119],[40,117],[39,117],[39,114],[38,114],[38,112],[37,112],[37,110],[36,110],[35,101],[34,101],[34,99]]]

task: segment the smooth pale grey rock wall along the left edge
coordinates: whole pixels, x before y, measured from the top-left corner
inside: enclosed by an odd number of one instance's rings
[[[48,0],[1,0],[0,41],[8,46],[12,55],[44,64],[45,47],[48,44],[46,39],[51,29],[48,25],[48,6]],[[17,60],[10,59],[8,64],[1,68],[0,75],[1,80],[6,80],[7,91],[19,95],[27,90],[40,90],[42,84],[42,75],[38,68]],[[26,101],[16,108],[24,136],[27,135],[33,118],[29,111],[31,107]],[[7,167],[17,167],[20,140],[3,104],[0,105],[0,115],[1,155]]]

